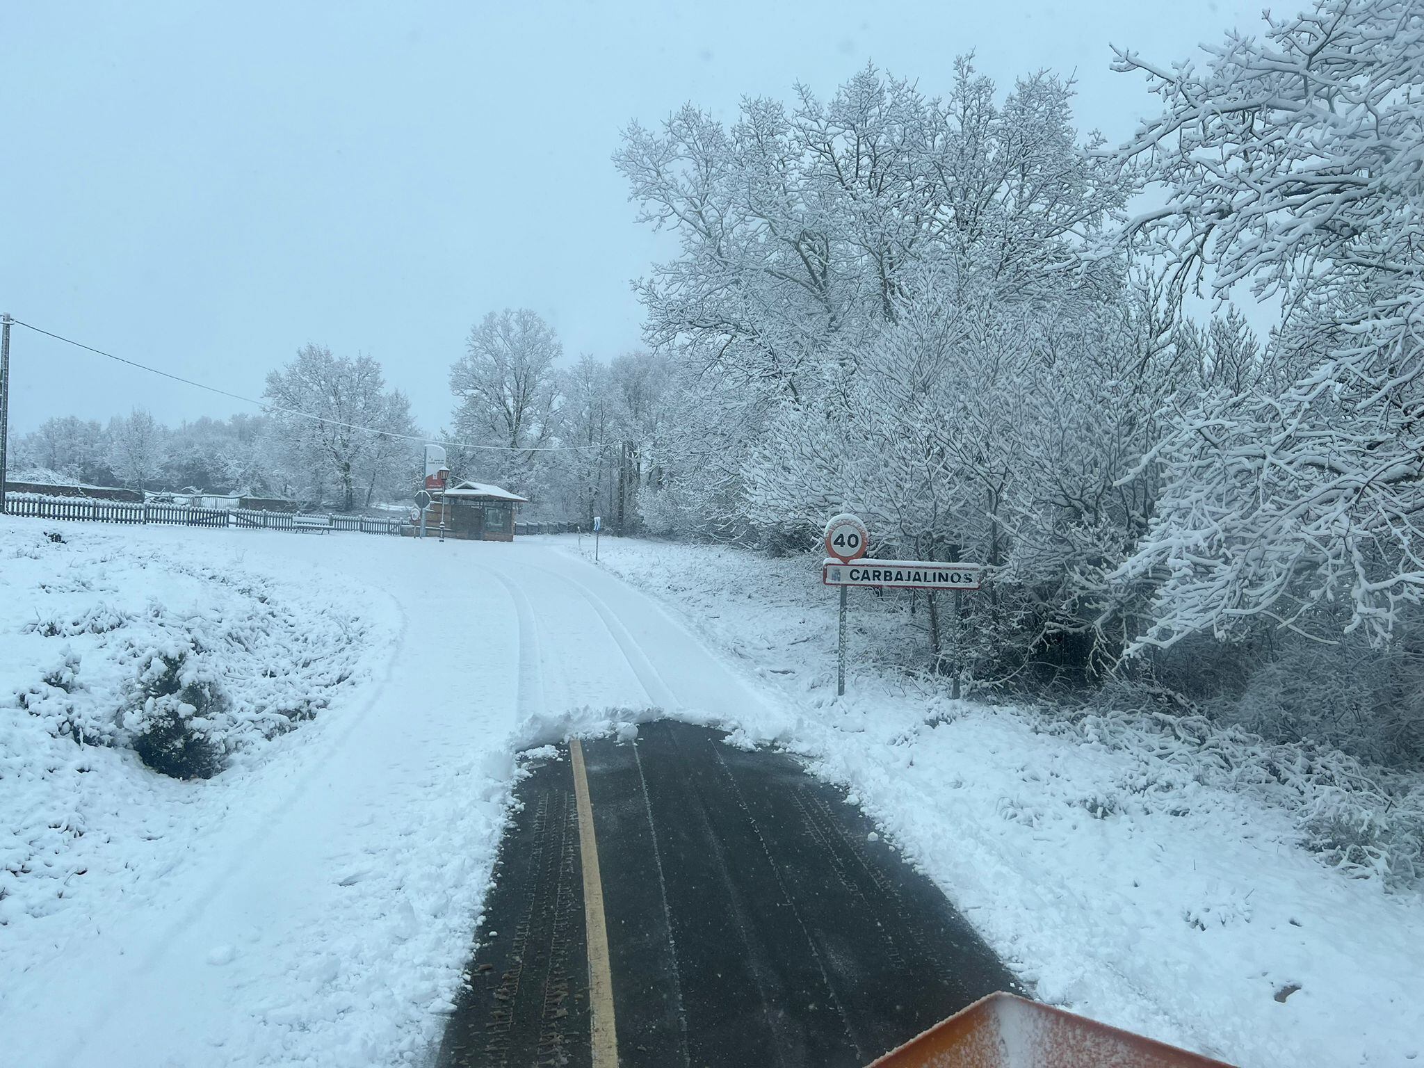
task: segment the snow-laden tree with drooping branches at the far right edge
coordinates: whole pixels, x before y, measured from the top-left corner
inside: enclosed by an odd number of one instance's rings
[[[1166,202],[1125,232],[1179,290],[1279,299],[1273,373],[1182,399],[1166,487],[1121,571],[1142,644],[1265,617],[1383,639],[1424,594],[1424,9],[1321,0],[1202,64],[1121,53],[1163,101],[1122,158]]]

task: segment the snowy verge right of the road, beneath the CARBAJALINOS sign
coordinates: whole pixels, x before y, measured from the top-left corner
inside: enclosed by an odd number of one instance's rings
[[[1220,752],[916,692],[866,661],[920,648],[856,628],[837,701],[819,561],[614,538],[600,560],[776,709],[739,738],[846,785],[1040,998],[1242,1065],[1424,1059],[1424,901],[1324,867],[1270,790],[1219,785]]]

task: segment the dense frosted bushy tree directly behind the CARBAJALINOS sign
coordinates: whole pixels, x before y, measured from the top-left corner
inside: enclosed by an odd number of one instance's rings
[[[782,406],[746,466],[752,518],[803,544],[850,510],[883,555],[988,565],[970,611],[998,674],[1069,641],[1072,671],[1116,658],[1104,575],[1145,528],[1155,486],[1132,473],[1175,389],[1131,302],[1059,285],[1024,299],[934,269],[840,365],[833,404]],[[930,627],[938,648],[933,601]]]

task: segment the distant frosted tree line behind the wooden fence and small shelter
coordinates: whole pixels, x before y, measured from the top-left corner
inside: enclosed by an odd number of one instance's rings
[[[423,443],[449,441],[456,477],[530,497],[525,517],[639,525],[638,494],[659,478],[668,360],[629,353],[565,366],[528,309],[490,313],[454,363],[453,430],[427,436],[370,356],[306,345],[266,377],[258,414],[177,427],[134,409],[108,423],[73,416],[17,436],[10,477],[141,491],[241,493],[340,510],[409,504]]]

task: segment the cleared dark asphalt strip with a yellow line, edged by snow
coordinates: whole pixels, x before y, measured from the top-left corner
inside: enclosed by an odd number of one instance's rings
[[[662,721],[574,742],[520,796],[443,1068],[859,1068],[1018,990],[789,758]]]

